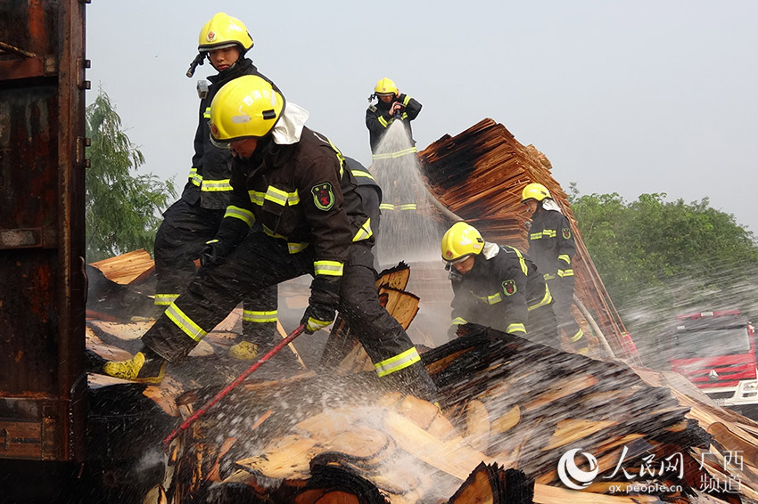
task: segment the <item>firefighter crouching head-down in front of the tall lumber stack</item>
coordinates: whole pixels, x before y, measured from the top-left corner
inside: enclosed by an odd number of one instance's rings
[[[559,347],[550,289],[528,256],[484,241],[464,222],[445,232],[441,252],[454,294],[450,328],[457,334],[477,324]]]

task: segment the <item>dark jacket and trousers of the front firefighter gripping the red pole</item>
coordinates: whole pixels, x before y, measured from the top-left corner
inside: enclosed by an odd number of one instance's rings
[[[312,306],[338,308],[375,363],[409,392],[434,386],[400,323],[379,304],[373,233],[339,150],[303,127],[300,140],[260,140],[251,159],[235,159],[232,202],[217,239],[238,243],[227,260],[202,268],[143,341],[169,361],[184,357],[248,292],[302,274],[314,276]],[[264,232],[247,233],[253,222]]]

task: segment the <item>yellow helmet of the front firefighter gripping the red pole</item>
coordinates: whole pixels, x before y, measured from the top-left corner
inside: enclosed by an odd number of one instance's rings
[[[284,111],[284,96],[260,76],[237,77],[210,103],[210,135],[218,142],[260,138],[274,129]]]

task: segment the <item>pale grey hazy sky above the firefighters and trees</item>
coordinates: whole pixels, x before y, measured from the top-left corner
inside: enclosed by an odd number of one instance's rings
[[[391,77],[424,105],[419,150],[482,118],[553,164],[568,190],[704,197],[758,234],[758,2],[505,0],[182,2],[87,6],[93,83],[115,102],[144,171],[185,183],[202,25],[240,18],[248,55],[309,126],[370,163],[367,96]]]

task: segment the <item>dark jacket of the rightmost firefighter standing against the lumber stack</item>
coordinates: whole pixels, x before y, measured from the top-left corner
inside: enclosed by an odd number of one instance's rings
[[[575,252],[576,243],[566,216],[540,205],[531,216],[528,253],[545,279],[573,277]]]

